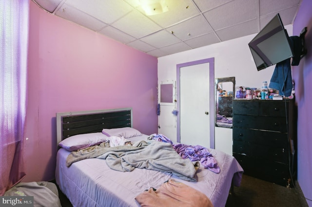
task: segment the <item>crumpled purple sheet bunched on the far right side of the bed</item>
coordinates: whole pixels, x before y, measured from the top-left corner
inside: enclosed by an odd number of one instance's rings
[[[220,168],[209,150],[200,145],[186,145],[186,144],[173,144],[173,142],[162,134],[154,134],[150,136],[162,142],[171,143],[176,152],[183,158],[189,158],[191,161],[199,161],[204,168],[214,172],[220,173]]]

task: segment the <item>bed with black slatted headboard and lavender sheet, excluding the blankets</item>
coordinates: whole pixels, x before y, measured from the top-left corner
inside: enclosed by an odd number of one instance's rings
[[[107,138],[112,141],[112,138],[115,137],[115,134],[114,136],[107,134],[105,139],[103,129],[111,129],[115,132],[133,129],[132,116],[131,108],[57,113],[58,143],[66,140],[73,141],[77,137],[78,145],[83,150],[99,147],[107,143]],[[138,130],[134,129],[134,131]],[[127,133],[122,135],[127,136]],[[91,136],[95,136],[97,139],[93,140],[92,144],[80,143],[80,139],[85,136],[87,136],[86,139]],[[151,135],[138,132],[131,136],[126,138],[128,142],[138,143],[142,140],[151,142]],[[136,200],[138,196],[149,191],[157,192],[171,181],[199,191],[209,198],[214,207],[224,207],[231,187],[239,186],[242,178],[243,169],[236,159],[232,155],[215,149],[209,149],[209,152],[216,160],[220,172],[215,173],[211,169],[208,170],[200,163],[195,170],[195,180],[193,181],[184,179],[183,176],[170,171],[145,168],[135,168],[124,172],[113,170],[106,159],[98,157],[81,159],[70,163],[67,167],[69,155],[79,151],[76,151],[76,146],[73,147],[76,143],[73,144],[71,141],[68,141],[67,145],[63,144],[59,147],[56,182],[60,190],[76,207],[139,207],[140,204]],[[95,144],[95,142],[98,143]],[[101,144],[99,145],[99,143]]]

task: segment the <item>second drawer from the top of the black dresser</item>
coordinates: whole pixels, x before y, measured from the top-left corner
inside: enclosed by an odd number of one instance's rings
[[[233,115],[233,127],[287,132],[285,117]]]

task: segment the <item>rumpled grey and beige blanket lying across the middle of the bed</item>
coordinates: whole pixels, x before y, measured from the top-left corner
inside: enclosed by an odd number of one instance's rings
[[[150,144],[139,141],[133,146],[107,147],[104,143],[72,152],[66,165],[85,158],[106,159],[107,165],[117,171],[133,171],[135,168],[173,173],[183,180],[196,182],[198,163],[178,155],[170,143],[152,141]]]

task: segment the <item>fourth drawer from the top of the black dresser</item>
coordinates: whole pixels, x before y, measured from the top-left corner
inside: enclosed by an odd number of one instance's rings
[[[280,163],[288,163],[288,148],[266,146],[245,141],[233,141],[233,153]]]

